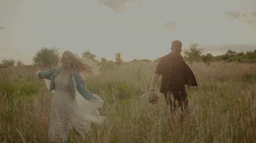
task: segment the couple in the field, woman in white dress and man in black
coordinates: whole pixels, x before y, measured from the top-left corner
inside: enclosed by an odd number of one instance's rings
[[[160,59],[149,89],[154,91],[155,83],[162,74],[160,92],[165,95],[171,117],[177,107],[188,111],[184,85],[188,85],[187,88],[190,88],[190,85],[197,86],[193,72],[180,55],[181,48],[181,41],[172,42],[172,52]],[[103,101],[86,89],[84,82],[85,76],[97,76],[97,65],[90,60],[79,58],[70,51],[63,52],[60,63],[60,67],[37,72],[39,78],[50,80],[49,84],[46,80],[49,91],[55,90],[51,100],[49,127],[49,138],[52,142],[67,140],[68,127],[72,127],[84,138],[91,122],[102,123],[106,119],[106,116],[100,116],[97,111]]]

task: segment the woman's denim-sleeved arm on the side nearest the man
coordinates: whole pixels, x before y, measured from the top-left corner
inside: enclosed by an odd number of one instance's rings
[[[85,82],[79,73],[75,74],[75,82],[77,83],[77,91],[79,92],[79,94],[82,95],[86,100],[90,101],[93,95],[86,88]]]

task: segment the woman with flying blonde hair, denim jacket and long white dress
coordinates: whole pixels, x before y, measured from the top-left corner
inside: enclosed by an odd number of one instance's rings
[[[49,138],[53,142],[67,140],[68,127],[85,137],[91,122],[102,123],[97,108],[103,101],[92,94],[83,78],[97,76],[98,67],[92,61],[79,58],[70,51],[62,54],[60,66],[47,71],[38,71],[38,77],[50,80],[49,92],[54,91],[51,100]],[[46,85],[47,80],[45,80]],[[76,92],[78,91],[78,92]],[[84,97],[84,98],[83,98]]]

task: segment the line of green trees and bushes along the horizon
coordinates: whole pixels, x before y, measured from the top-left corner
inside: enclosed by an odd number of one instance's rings
[[[190,63],[203,61],[205,63],[211,63],[214,61],[238,61],[238,62],[256,62],[256,49],[254,51],[246,51],[246,52],[236,52],[228,49],[225,54],[213,56],[212,54],[202,54],[203,49],[199,48],[198,43],[191,43],[188,49],[184,49],[184,60],[189,61]],[[60,51],[57,47],[43,47],[37,51],[37,53],[32,58],[33,65],[37,65],[40,67],[53,67],[56,66],[60,61]],[[79,55],[78,55],[79,56]],[[82,53],[82,57],[86,57],[101,65],[103,67],[113,66],[113,64],[121,65],[123,63],[123,59],[121,58],[121,53],[115,53],[115,61],[107,60],[106,58],[101,58],[101,60],[97,60],[96,54],[87,50]],[[154,60],[154,62],[158,62],[161,57]],[[153,62],[149,59],[133,59],[130,62]],[[10,66],[22,66],[25,65],[21,60],[15,61],[14,59],[3,59],[0,62],[0,67],[10,67]]]

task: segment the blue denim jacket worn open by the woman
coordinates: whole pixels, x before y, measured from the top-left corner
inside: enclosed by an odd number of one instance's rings
[[[47,71],[39,71],[38,77],[39,78],[45,78],[48,80],[51,80],[50,86],[49,86],[49,92],[55,89],[54,80],[57,77],[57,75],[60,73],[61,67],[55,67],[53,69],[49,69]],[[86,100],[90,101],[92,98],[92,93],[86,88],[85,82],[80,76],[80,74],[71,69],[70,71],[70,77],[69,77],[69,90],[71,92],[71,96],[73,99],[75,98],[75,85],[77,88],[77,91],[80,95],[82,95]],[[75,83],[73,81],[75,80]]]

